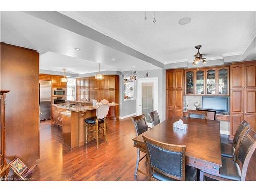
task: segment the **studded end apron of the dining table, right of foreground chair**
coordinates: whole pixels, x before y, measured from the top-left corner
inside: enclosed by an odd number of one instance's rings
[[[204,170],[204,172],[206,173],[219,174],[220,167],[209,162],[205,162],[202,160],[198,160],[198,159],[186,156],[186,164],[189,166],[198,168],[200,170]]]

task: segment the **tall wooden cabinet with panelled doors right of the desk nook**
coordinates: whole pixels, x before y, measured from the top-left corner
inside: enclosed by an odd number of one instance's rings
[[[230,66],[230,138],[245,119],[256,130],[256,61]]]

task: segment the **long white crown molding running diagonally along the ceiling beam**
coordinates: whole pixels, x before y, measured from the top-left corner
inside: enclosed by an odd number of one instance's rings
[[[124,45],[126,45],[126,46],[128,46],[128,47],[130,47],[130,48],[132,48],[132,49],[134,49],[136,51],[139,51],[140,53],[143,53],[144,55],[146,55],[148,57],[151,57],[151,58],[153,58],[153,59],[155,59],[155,60],[157,60],[157,61],[159,61],[161,63],[164,63],[164,61],[161,58],[158,58],[156,56],[152,56],[153,55],[152,53],[149,53],[149,52],[139,48],[138,46],[136,46],[132,42],[124,39],[123,37],[117,35],[116,33],[112,32],[112,31],[110,31],[110,30],[108,30],[108,29],[106,29],[106,28],[104,28],[104,27],[102,27],[102,26],[92,22],[92,20],[83,17],[82,15],[77,13],[76,11],[58,11],[58,12],[63,14],[63,15],[65,15],[65,16],[68,16],[68,17],[70,17],[72,19],[77,20],[77,22],[79,22],[79,23],[81,23],[83,25],[86,25],[86,26],[88,26],[88,27],[90,27],[90,28],[92,28],[92,29],[94,29],[94,30],[96,30],[96,31],[106,35],[106,36],[109,36],[109,37],[111,37],[111,38],[121,42],[122,44],[124,44]]]

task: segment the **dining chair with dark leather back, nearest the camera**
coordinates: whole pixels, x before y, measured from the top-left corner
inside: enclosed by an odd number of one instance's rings
[[[195,181],[197,169],[186,166],[186,146],[162,143],[142,135],[150,181]]]

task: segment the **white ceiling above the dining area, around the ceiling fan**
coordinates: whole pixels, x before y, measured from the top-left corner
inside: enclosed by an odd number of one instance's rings
[[[256,12],[80,11],[61,12],[164,64],[194,59],[196,45],[212,60],[241,54],[255,35]],[[191,17],[187,25],[181,18]],[[255,33],[255,34],[254,34]]]

